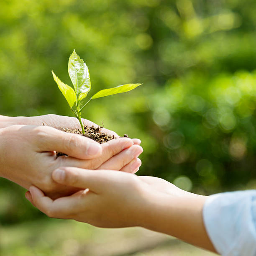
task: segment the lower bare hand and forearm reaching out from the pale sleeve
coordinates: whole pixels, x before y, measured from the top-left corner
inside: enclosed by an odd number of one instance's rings
[[[118,171],[65,167],[55,170],[52,178],[80,190],[52,200],[30,187],[26,198],[51,218],[103,228],[141,226],[216,252],[202,218],[205,196],[183,191],[163,179]]]

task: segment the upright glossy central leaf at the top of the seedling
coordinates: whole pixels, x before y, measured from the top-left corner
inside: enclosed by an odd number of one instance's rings
[[[69,77],[74,85],[77,99],[82,100],[91,90],[91,80],[89,69],[74,50],[69,57],[68,64]]]

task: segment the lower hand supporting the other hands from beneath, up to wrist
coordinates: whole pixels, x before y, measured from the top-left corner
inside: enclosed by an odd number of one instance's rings
[[[55,170],[52,177],[60,184],[81,190],[51,200],[33,186],[26,198],[52,218],[74,219],[99,227],[141,225],[158,200],[154,197],[181,197],[187,193],[163,179],[117,171],[66,167]]]

